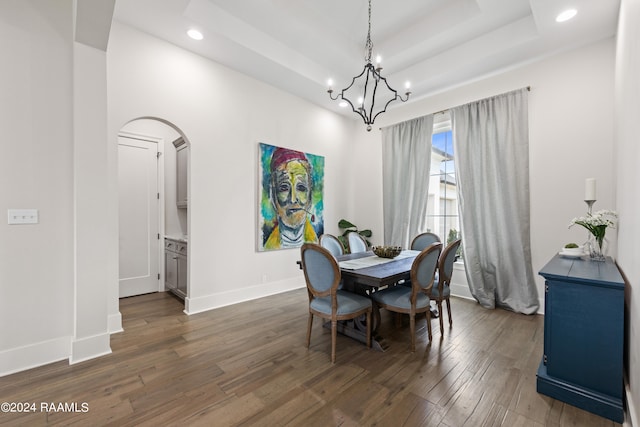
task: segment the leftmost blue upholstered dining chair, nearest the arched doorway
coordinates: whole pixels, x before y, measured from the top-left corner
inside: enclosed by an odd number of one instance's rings
[[[371,347],[371,312],[373,305],[365,296],[338,289],[340,268],[327,249],[315,243],[305,243],[300,249],[302,270],[309,294],[307,348],[311,344],[311,326],[316,315],[331,321],[331,363],[336,361],[338,321],[367,317],[367,347]]]

